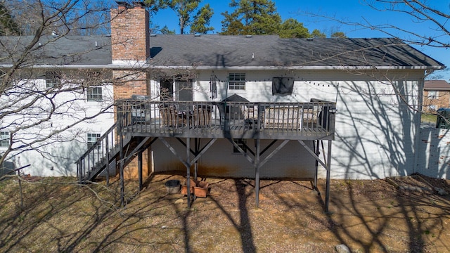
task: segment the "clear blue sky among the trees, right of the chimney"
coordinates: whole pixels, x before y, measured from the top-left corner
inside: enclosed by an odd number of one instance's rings
[[[210,23],[214,27],[214,32],[210,33],[221,32],[221,20],[224,18],[221,13],[224,11],[231,13],[233,11],[233,8],[229,7],[229,2],[223,0],[203,0],[200,3],[200,6],[210,4],[214,11]],[[426,34],[427,36],[429,36],[428,34],[432,36],[439,34],[439,31],[432,29],[430,22],[418,23],[412,20],[411,15],[394,13],[392,11],[376,11],[364,4],[363,0],[278,0],[274,1],[274,3],[283,20],[295,18],[299,22],[302,22],[304,27],[308,28],[309,32],[318,29],[325,33],[327,37],[333,32],[345,32],[347,37],[351,38],[387,37],[387,35],[375,30],[363,29],[355,25],[342,25],[340,22],[331,21],[327,18],[314,17],[310,13],[349,22],[365,22],[367,20],[376,25],[397,25],[418,32],[419,34]],[[439,11],[450,14],[450,0],[432,0],[430,3],[432,3],[432,7],[437,8]],[[159,25],[160,27],[167,25],[170,30],[175,30],[177,34],[179,33],[178,19],[174,11],[170,9],[159,11],[152,17],[152,20],[155,25]],[[441,21],[444,23],[446,20]],[[445,24],[450,30],[450,20]],[[189,29],[185,29],[185,31],[188,32]],[[409,34],[401,34],[400,32],[394,32],[394,34],[399,38],[409,36]],[[449,35],[443,38],[442,40],[447,43],[450,41]],[[430,46],[416,46],[416,48],[444,65],[449,66],[448,68],[450,69],[450,49],[432,48]],[[446,79],[448,82],[450,81],[450,70],[435,72],[435,74],[440,74],[442,75],[442,79]]]

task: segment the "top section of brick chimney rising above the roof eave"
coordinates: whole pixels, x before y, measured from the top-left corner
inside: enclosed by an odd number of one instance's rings
[[[111,10],[113,64],[145,63],[150,57],[148,11],[142,3],[117,4]]]

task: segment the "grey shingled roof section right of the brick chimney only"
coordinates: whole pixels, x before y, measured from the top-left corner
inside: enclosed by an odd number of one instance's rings
[[[274,35],[158,35],[151,65],[198,67],[442,66],[399,39],[282,39]]]

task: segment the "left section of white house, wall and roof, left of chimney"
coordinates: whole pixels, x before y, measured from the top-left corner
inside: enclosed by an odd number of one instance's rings
[[[2,50],[4,73],[32,39],[0,37],[2,46],[18,49]],[[97,76],[101,68],[93,67],[102,60],[110,63],[110,56],[103,58],[110,55],[110,40],[107,49],[96,46],[105,45],[104,39],[41,37],[28,52],[29,59],[9,79],[11,85],[2,86],[5,167],[25,167],[21,172],[30,176],[77,176],[75,161],[114,123],[113,85],[108,73]]]

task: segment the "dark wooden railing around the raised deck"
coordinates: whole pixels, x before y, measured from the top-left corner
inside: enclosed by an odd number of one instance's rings
[[[148,136],[333,136],[335,103],[117,100],[119,134]],[[315,138],[314,136],[311,138]]]

